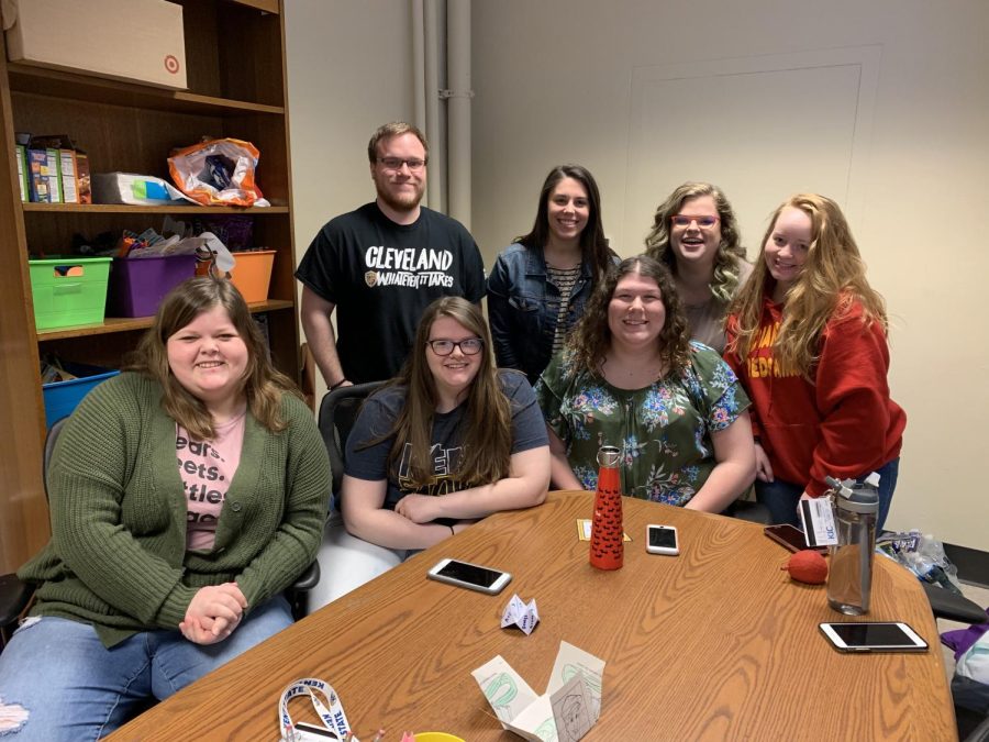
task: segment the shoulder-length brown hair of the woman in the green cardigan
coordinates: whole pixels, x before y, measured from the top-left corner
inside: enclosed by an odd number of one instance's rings
[[[202,312],[223,307],[230,321],[247,346],[247,368],[243,390],[251,414],[271,432],[285,430],[281,398],[285,392],[300,399],[292,380],[276,370],[268,358],[268,347],[244,297],[225,278],[190,278],[162,300],[155,321],[144,333],[127,358],[126,370],[134,370],[158,381],[164,390],[162,406],[189,433],[201,441],[213,439],[213,418],[201,399],[186,389],[168,365],[168,339]]]

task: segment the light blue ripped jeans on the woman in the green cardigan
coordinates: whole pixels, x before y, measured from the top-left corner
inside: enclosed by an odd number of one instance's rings
[[[212,669],[292,623],[276,596],[244,618],[222,642],[195,644],[178,630],[144,631],[103,646],[88,623],[29,619],[0,653],[0,701],[22,706],[27,720],[7,742],[98,740]],[[274,708],[274,707],[273,707]]]

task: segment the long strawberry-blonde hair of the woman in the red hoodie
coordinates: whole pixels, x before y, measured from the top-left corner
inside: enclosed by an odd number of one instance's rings
[[[764,297],[776,286],[766,266],[766,244],[777,218],[787,208],[799,209],[810,218],[811,243],[803,269],[784,299],[784,319],[773,348],[781,367],[810,377],[821,333],[830,320],[844,317],[858,302],[863,322],[879,322],[886,332],[886,302],[866,279],[865,263],[838,204],[816,193],[798,193],[773,212],[753,275],[732,303],[734,339],[729,353],[744,361],[756,341]]]

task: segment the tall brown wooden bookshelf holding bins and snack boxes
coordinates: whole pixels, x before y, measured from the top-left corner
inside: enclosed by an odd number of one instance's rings
[[[170,0],[182,7],[188,90],[102,79],[8,63],[0,38],[0,574],[18,568],[48,538],[41,478],[45,436],[38,373],[42,354],[119,367],[151,318],[114,318],[36,332],[29,256],[68,253],[74,234],[160,231],[180,220],[220,214],[254,218],[254,243],[276,250],[269,299],[252,304],[267,320],[271,356],[299,378],[289,125],[281,0]],[[236,38],[236,48],[229,42]],[[246,51],[245,51],[246,49]],[[257,180],[267,208],[22,203],[14,133],[67,134],[89,155],[92,173],[168,178],[170,151],[203,136],[231,136],[260,151]]]

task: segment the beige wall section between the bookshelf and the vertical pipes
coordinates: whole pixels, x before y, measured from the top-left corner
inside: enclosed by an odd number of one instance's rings
[[[375,197],[367,141],[412,118],[409,3],[288,0],[286,64],[296,257],[320,228]],[[300,289],[301,291],[301,289]],[[325,391],[316,374],[318,395]]]

